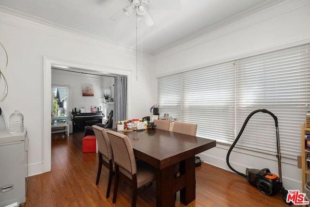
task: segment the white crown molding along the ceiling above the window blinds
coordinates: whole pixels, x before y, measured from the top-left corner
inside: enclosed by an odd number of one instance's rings
[[[279,16],[294,9],[310,4],[309,0],[270,0],[237,16],[224,20],[217,25],[197,32],[166,48],[154,53],[154,62],[171,55],[194,48],[221,36],[242,30],[251,25]]]

